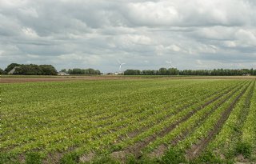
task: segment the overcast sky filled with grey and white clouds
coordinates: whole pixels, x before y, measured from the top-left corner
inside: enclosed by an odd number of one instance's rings
[[[254,0],[0,0],[0,67],[256,69]]]

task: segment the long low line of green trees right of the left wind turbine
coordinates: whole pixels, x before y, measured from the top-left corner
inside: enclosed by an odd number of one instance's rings
[[[214,69],[214,70],[178,70],[176,68],[160,68],[159,70],[126,70],[125,75],[194,75],[194,76],[242,76],[256,75],[254,69]]]

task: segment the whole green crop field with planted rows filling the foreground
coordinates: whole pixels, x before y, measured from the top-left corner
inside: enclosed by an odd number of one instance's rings
[[[256,162],[255,79],[0,86],[0,163]]]

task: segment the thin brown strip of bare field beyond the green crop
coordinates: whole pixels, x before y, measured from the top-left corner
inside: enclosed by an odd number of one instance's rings
[[[0,76],[0,83],[15,83],[15,82],[63,82],[63,81],[78,81],[78,80],[110,80],[110,79],[255,79],[255,76],[170,76],[170,77],[154,77],[154,76],[49,76],[49,77],[18,77],[18,76]]]

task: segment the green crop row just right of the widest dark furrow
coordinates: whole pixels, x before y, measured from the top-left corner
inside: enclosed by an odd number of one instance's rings
[[[237,154],[237,146],[241,140],[242,133],[245,131],[242,130],[242,127],[245,127],[246,118],[251,117],[249,112],[250,107],[253,107],[251,106],[251,101],[253,100],[254,90],[255,82],[250,86],[250,90],[246,90],[246,94],[242,96],[234,107],[220,133],[207,147],[208,151],[216,152],[217,157],[234,158]]]

